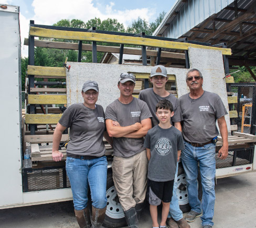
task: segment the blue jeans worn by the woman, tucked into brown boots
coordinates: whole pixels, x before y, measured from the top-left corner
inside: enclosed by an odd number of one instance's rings
[[[67,157],[66,170],[73,194],[74,209],[82,210],[88,203],[88,184],[91,189],[92,206],[106,207],[106,157],[90,160]]]

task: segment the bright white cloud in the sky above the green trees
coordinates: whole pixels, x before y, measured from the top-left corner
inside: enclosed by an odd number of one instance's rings
[[[5,4],[12,4],[12,0],[2,0]],[[20,13],[20,32],[22,37],[22,44],[24,38],[28,37],[29,20],[35,20],[35,24],[52,25],[61,19],[80,19],[84,22],[92,18],[100,18],[101,20],[107,18],[115,18],[125,27],[132,24],[132,21],[138,17],[145,18],[147,21],[156,13],[155,9],[137,8],[137,9],[114,9],[114,3],[110,2],[99,10],[97,4],[93,4],[92,0],[34,0],[32,6],[34,7],[34,17],[26,18],[26,12]],[[28,55],[27,46],[22,48],[23,56]]]

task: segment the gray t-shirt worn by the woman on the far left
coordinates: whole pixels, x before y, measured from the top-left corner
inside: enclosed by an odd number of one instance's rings
[[[73,104],[63,112],[59,123],[70,128],[68,153],[97,157],[105,154],[105,121],[102,106],[96,105],[95,109],[90,109],[83,103]]]

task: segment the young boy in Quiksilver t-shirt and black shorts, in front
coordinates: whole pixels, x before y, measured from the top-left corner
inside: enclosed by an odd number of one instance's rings
[[[172,200],[177,161],[184,149],[182,133],[172,126],[174,115],[170,101],[164,99],[156,105],[159,124],[147,132],[144,147],[148,158],[150,211],[154,227],[166,227],[166,219]],[[157,206],[163,203],[162,221],[157,222]]]

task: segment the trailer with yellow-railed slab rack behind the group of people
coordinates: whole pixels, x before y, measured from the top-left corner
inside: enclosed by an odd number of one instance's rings
[[[29,38],[25,39],[25,44],[29,45],[29,65],[27,107],[23,116],[19,7],[2,4],[0,6],[0,18],[5,20],[2,25],[3,35],[0,36],[1,98],[4,107],[1,111],[3,146],[0,153],[3,162],[0,171],[3,187],[0,191],[2,196],[0,209],[72,200],[65,168],[65,144],[69,139],[68,132],[63,134],[61,139],[64,155],[62,161],[54,162],[51,158],[52,133],[65,106],[80,102],[81,85],[88,79],[94,79],[100,87],[98,103],[105,108],[119,96],[116,81],[122,72],[132,72],[136,75],[137,87],[134,90],[136,97],[141,89],[150,86],[148,76],[151,67],[161,63],[161,58],[178,59],[178,62],[183,64],[182,67],[167,67],[169,84],[175,84],[176,87],[175,90],[170,89],[170,93],[179,97],[188,92],[184,83],[185,75],[189,67],[195,67],[204,75],[204,89],[218,93],[229,110],[229,115],[226,117],[230,134],[229,156],[225,161],[216,158],[216,179],[256,170],[254,157],[256,84],[235,84],[232,76],[226,77],[229,73],[228,55],[231,55],[231,50],[225,48],[224,44],[211,47],[206,43],[145,36],[143,33],[134,35],[100,31],[95,28],[64,28],[37,25],[34,21],[30,21]],[[35,37],[77,40],[78,43],[36,40]],[[83,44],[82,41],[91,41],[92,44]],[[119,43],[120,47],[102,46],[97,42]],[[125,48],[125,44],[134,44],[141,48]],[[35,66],[35,47],[78,50],[78,62],[67,62],[63,67]],[[146,47],[154,47],[156,50],[147,50]],[[182,53],[162,51],[165,48]],[[83,50],[92,51],[93,63],[81,62]],[[119,64],[97,63],[97,51],[119,53]],[[141,64],[122,64],[124,53],[141,55]],[[68,65],[71,66],[70,69],[67,69]],[[47,82],[47,80],[39,82],[37,78],[55,78],[57,81],[64,79],[66,82]],[[53,84],[62,85],[62,88],[54,88]],[[248,132],[244,133],[246,131]],[[221,143],[222,139],[219,136],[216,152]],[[106,143],[105,147],[108,157],[106,189],[108,206],[104,224],[107,227],[120,227],[125,225],[125,219],[112,180],[113,149]],[[24,167],[26,149],[31,152],[28,168]],[[199,181],[199,197],[200,194]],[[182,163],[179,163],[177,195],[180,208],[184,212],[188,211],[188,195]]]

